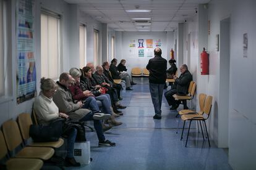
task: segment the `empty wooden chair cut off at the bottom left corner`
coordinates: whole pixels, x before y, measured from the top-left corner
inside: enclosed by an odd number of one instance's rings
[[[0,130],[0,160],[8,155],[8,150],[6,146],[6,141],[4,140],[4,135]],[[6,169],[16,170],[16,169],[31,169],[39,170],[43,166],[43,161],[39,159],[28,159],[28,158],[9,158],[5,163]]]

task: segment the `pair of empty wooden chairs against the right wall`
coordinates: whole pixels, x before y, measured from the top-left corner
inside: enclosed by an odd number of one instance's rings
[[[199,111],[188,110],[188,109],[179,111],[179,117],[182,119],[182,121],[184,121],[183,128],[182,128],[182,134],[181,134],[181,140],[183,139],[183,132],[184,132],[184,127],[185,127],[186,121],[189,121],[187,140],[189,139],[189,131],[190,131],[190,125],[191,125],[192,121],[197,121],[198,133],[200,132],[199,125],[198,125],[198,123],[199,123],[200,129],[202,132],[203,141],[205,140],[205,137],[203,136],[203,129],[204,129],[206,137],[208,139],[209,147],[211,147],[209,136],[208,136],[208,131],[207,131],[207,125],[206,125],[205,121],[210,116],[212,100],[213,100],[213,97],[211,95],[207,96],[206,94],[199,94],[199,107],[200,107]],[[204,128],[202,127],[201,121],[203,122]],[[179,121],[177,124],[177,129],[178,128],[179,128]],[[186,147],[187,147],[187,140],[186,140]]]

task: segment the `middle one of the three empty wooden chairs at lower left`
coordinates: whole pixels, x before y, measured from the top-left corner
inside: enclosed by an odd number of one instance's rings
[[[6,121],[2,124],[2,131],[6,139],[6,145],[9,151],[14,151],[22,144],[20,129],[14,120]],[[49,147],[23,147],[15,158],[38,158],[41,160],[49,160],[54,154],[54,149]]]

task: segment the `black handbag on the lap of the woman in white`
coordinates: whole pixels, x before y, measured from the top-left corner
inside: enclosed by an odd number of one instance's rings
[[[29,135],[34,142],[55,142],[62,134],[63,118],[54,119],[49,125],[30,125]]]

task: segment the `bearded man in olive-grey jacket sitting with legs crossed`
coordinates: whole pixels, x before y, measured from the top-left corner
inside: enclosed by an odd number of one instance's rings
[[[66,115],[68,115],[69,118],[74,119],[76,121],[93,120],[93,126],[95,128],[99,140],[98,146],[115,146],[115,143],[105,139],[100,121],[100,119],[109,118],[109,115],[104,115],[103,113],[96,113],[99,111],[97,104],[91,105],[91,107],[93,107],[93,111],[90,111],[88,109],[82,108],[83,103],[81,101],[74,103],[72,95],[69,91],[69,86],[71,86],[72,81],[73,78],[69,75],[69,73],[62,73],[59,76],[59,81],[57,81],[58,89],[56,93],[53,95],[53,101],[54,103],[56,103],[57,107],[59,108],[59,111],[61,111],[62,113],[66,113]],[[90,102],[94,103],[94,100],[88,101],[88,104],[85,103],[85,105],[90,105]]]

